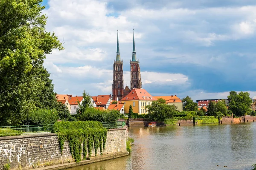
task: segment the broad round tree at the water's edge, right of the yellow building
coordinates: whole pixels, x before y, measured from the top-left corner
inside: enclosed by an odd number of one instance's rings
[[[153,101],[151,105],[146,106],[146,109],[148,109],[148,119],[156,121],[172,118],[177,113],[174,105],[166,105],[161,99]]]

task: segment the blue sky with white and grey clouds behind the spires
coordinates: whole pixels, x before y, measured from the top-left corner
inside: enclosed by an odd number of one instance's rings
[[[133,29],[142,87],[153,96],[256,96],[255,0],[44,0],[46,30],[64,50],[47,54],[58,94],[111,94],[119,30],[130,85]],[[254,77],[255,76],[255,77]]]

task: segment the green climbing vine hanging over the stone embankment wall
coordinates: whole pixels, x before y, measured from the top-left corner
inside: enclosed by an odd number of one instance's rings
[[[68,141],[70,153],[76,162],[81,161],[82,151],[83,160],[86,159],[87,153],[89,157],[92,155],[93,149],[95,156],[97,155],[98,148],[102,155],[103,150],[105,150],[107,132],[107,129],[100,122],[95,121],[56,122],[52,130],[52,133],[57,133],[58,135],[61,154],[65,141]]]

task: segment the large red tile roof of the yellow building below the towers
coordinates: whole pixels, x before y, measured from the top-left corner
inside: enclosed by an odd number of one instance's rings
[[[121,101],[126,101],[126,100],[157,100],[154,97],[151,96],[145,89],[143,88],[134,88],[131,90],[127,96],[122,98]]]

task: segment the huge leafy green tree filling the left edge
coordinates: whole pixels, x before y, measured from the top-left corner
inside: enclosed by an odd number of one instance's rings
[[[42,0],[0,1],[0,125],[18,125],[29,113],[52,107],[45,54],[63,49],[54,33],[45,31]],[[47,81],[46,81],[47,79]],[[49,92],[49,93],[48,93]],[[47,104],[48,103],[48,104]],[[56,101],[55,101],[56,104]]]

